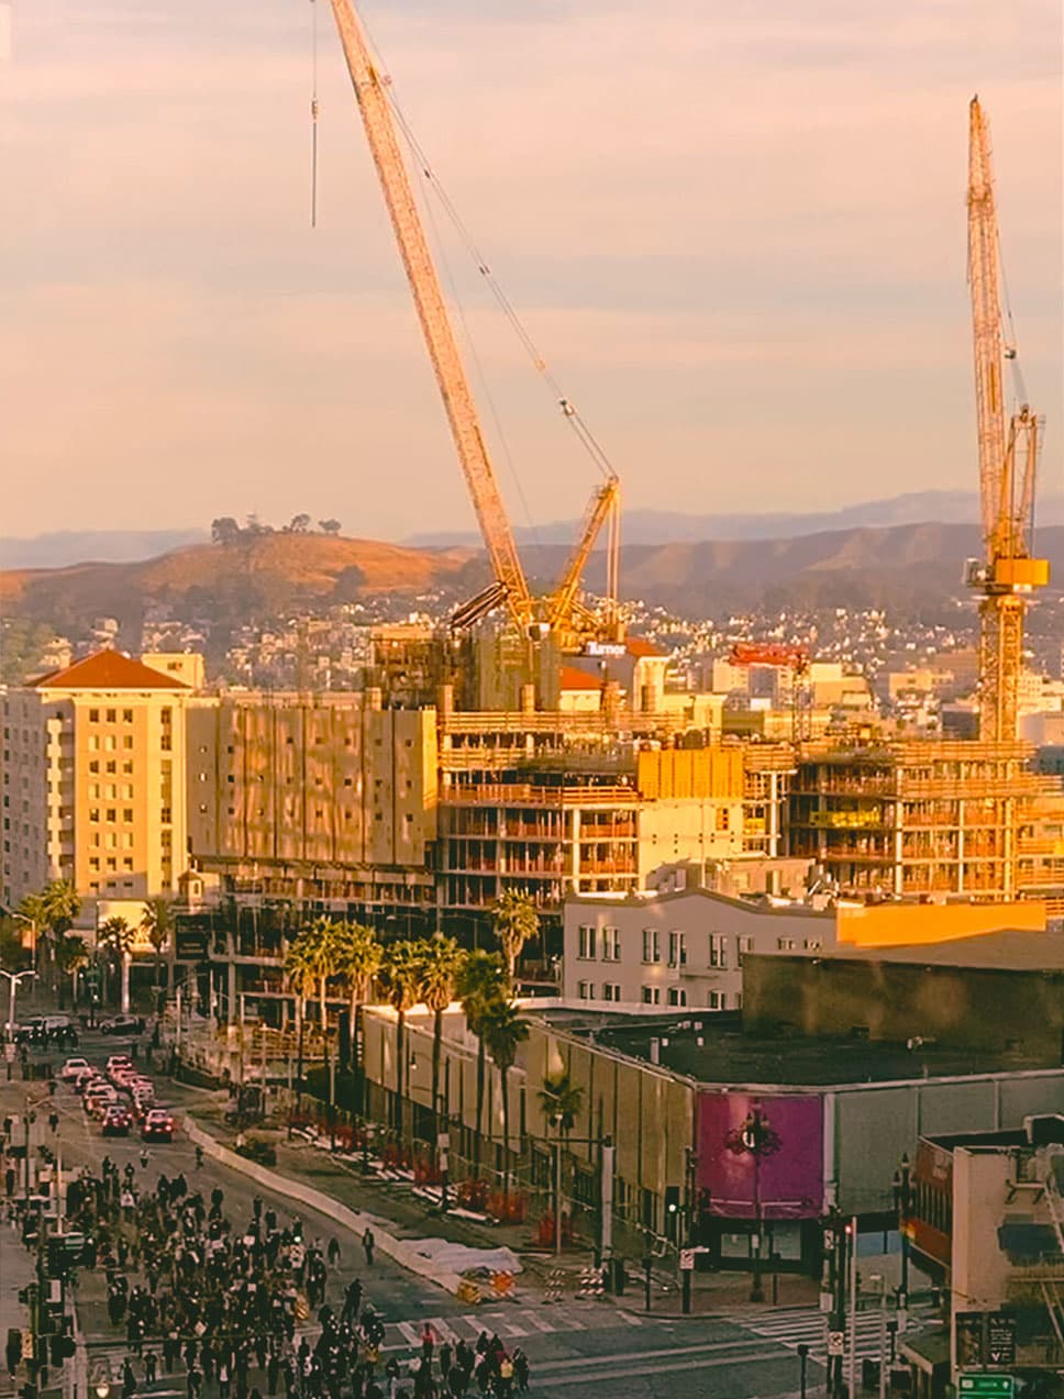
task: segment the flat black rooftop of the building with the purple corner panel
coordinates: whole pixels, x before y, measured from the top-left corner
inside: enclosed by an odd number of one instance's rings
[[[973,1052],[924,1044],[909,1049],[850,1037],[745,1035],[738,1011],[685,1011],[643,1016],[617,1011],[545,1009],[559,1030],[647,1063],[658,1042],[658,1063],[706,1086],[848,1087],[910,1079],[955,1079],[987,1073],[1060,1067],[1043,1058],[1014,1052]]]

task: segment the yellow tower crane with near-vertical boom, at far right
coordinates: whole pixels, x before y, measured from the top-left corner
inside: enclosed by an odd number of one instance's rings
[[[1049,561],[1032,558],[1040,422],[1023,404],[1005,414],[1004,364],[1016,358],[1001,316],[1001,249],[994,207],[990,127],[979,98],[969,106],[967,278],[976,361],[981,560],[969,560],[979,596],[980,739],[1014,743],[1028,596],[1049,582]]]

